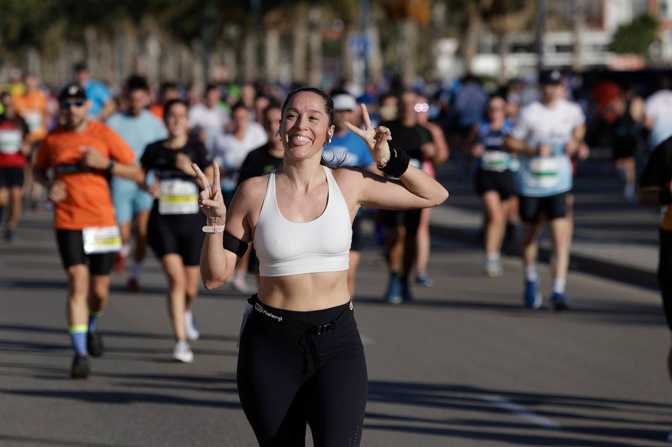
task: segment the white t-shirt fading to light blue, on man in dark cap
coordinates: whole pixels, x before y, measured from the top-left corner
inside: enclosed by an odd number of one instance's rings
[[[572,165],[564,153],[564,145],[584,122],[581,107],[566,99],[558,101],[552,109],[539,101],[523,107],[511,136],[528,146],[548,144],[552,155],[519,157],[520,168],[514,177],[519,195],[549,197],[571,189]]]

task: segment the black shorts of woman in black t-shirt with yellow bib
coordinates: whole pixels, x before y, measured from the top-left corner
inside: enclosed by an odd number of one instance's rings
[[[147,242],[157,258],[167,254],[179,254],[187,266],[200,264],[201,248],[206,239],[202,228],[205,216],[194,214],[159,214],[158,202],[149,215]]]

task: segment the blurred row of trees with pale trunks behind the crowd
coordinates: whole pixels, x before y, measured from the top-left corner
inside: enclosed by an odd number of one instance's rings
[[[554,3],[581,0],[554,0]],[[466,71],[485,29],[502,60],[508,36],[534,31],[536,0],[0,0],[0,78],[19,66],[50,85],[87,61],[119,84],[131,72],[151,83],[242,79],[347,83],[437,77],[435,43],[456,38]],[[368,36],[366,62],[351,38]],[[358,65],[358,63],[360,65]],[[505,66],[502,64],[502,77]]]

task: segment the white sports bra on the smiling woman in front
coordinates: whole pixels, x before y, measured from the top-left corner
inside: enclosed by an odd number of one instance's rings
[[[323,167],[329,186],[327,207],[309,222],[292,222],[280,214],[276,171],[269,174],[253,240],[262,277],[347,270],[352,240],[350,211],[331,169]]]

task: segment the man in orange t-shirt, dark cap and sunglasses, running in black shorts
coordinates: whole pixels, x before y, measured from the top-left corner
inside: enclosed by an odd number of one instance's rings
[[[70,375],[76,378],[89,375],[89,354],[103,353],[97,321],[110,293],[114,252],[121,248],[108,177],[140,183],[144,173],[120,136],[103,123],[89,121],[91,103],[79,85],[67,85],[58,99],[66,123],[40,144],[34,174],[56,203],[54,229],[68,277],[67,317],[75,349]],[[54,181],[46,175],[49,168]]]

